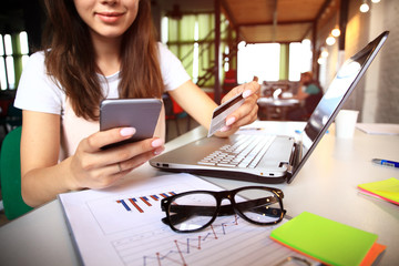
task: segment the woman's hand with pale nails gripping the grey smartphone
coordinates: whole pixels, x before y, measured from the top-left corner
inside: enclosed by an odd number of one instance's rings
[[[153,137],[108,150],[101,147],[134,135],[134,127],[96,132],[83,139],[71,157],[72,190],[104,188],[164,150],[164,142]]]

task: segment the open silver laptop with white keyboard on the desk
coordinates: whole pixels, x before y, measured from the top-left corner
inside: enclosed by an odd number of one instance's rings
[[[233,134],[203,137],[150,160],[156,168],[266,184],[291,183],[388,38],[388,31],[348,59],[299,137]],[[248,153],[243,155],[243,153]]]

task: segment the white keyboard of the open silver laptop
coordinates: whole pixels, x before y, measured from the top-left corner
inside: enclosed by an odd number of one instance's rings
[[[224,145],[198,164],[254,168],[273,143],[275,135],[238,135],[234,144]]]

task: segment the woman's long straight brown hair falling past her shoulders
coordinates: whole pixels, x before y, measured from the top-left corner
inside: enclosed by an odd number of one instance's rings
[[[45,0],[43,49],[48,74],[63,90],[78,116],[99,120],[104,99],[89,28],[72,0]],[[121,45],[120,98],[161,98],[163,81],[150,0],[140,0],[137,17]]]

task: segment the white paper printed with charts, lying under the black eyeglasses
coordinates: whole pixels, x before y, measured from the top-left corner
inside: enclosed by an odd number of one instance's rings
[[[276,226],[253,225],[238,216],[217,218],[198,233],[173,232],[161,222],[160,200],[193,190],[221,188],[175,174],[59,198],[84,265],[276,265],[289,256],[306,258],[269,238]]]

